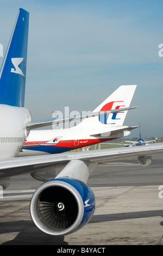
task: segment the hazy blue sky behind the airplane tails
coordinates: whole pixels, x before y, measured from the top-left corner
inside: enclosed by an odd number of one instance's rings
[[[18,9],[30,13],[25,104],[34,120],[90,111],[123,84],[137,84],[125,125],[163,137],[162,7],[157,0],[0,0],[0,43]],[[3,58],[0,57],[0,64]],[[130,137],[139,136],[139,130]]]

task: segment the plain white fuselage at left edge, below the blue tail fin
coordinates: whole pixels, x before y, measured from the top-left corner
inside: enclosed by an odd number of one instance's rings
[[[16,157],[27,137],[28,108],[0,104],[0,159]]]

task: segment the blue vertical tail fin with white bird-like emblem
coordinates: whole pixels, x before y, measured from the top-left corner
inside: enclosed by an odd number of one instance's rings
[[[24,106],[29,13],[20,8],[0,71],[0,104]]]

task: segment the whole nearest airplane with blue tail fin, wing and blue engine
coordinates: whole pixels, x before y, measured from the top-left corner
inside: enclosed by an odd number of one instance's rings
[[[44,233],[67,235],[84,227],[95,212],[95,196],[86,182],[98,162],[139,157],[143,164],[147,157],[163,154],[163,143],[16,157],[30,129],[54,121],[32,121],[24,107],[28,21],[29,13],[20,8],[0,71],[0,184],[5,189],[12,176],[27,173],[42,180],[30,200],[30,216]]]

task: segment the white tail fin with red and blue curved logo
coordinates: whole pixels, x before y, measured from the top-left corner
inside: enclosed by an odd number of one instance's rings
[[[122,126],[124,119],[126,118],[127,111],[121,112],[121,108],[127,108],[130,106],[130,102],[133,98],[136,85],[134,86],[120,86],[114,93],[112,93],[101,105],[99,105],[93,112],[109,111],[111,109],[117,109],[116,113],[103,114],[99,117],[92,117],[84,119],[76,127],[82,129],[100,128],[108,126]]]

